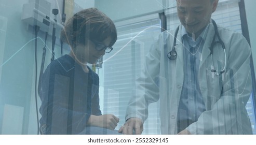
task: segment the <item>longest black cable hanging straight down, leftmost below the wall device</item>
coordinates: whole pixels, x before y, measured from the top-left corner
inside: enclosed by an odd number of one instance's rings
[[[35,25],[35,105],[36,105],[36,119],[37,119],[37,135],[39,135],[39,118],[38,118],[38,105],[37,105],[37,32],[39,26]]]

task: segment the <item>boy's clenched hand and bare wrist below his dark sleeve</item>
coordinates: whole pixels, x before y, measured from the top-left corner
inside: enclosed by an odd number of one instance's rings
[[[114,130],[119,122],[119,118],[115,117],[113,114],[104,115],[90,115],[87,121],[87,126],[97,126],[102,128],[107,128]]]

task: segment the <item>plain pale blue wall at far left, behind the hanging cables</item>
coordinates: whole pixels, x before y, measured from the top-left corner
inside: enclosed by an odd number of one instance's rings
[[[23,4],[29,0],[0,2],[0,134],[36,134],[35,108],[35,33],[21,20]],[[51,2],[51,9],[62,11],[62,2]],[[57,5],[57,2],[59,3]],[[60,20],[60,18],[58,19]],[[37,42],[38,75],[41,67],[45,33]],[[60,56],[57,39],[56,57]],[[45,68],[51,57],[48,36]],[[38,99],[38,107],[41,105]],[[40,117],[40,116],[39,116]]]

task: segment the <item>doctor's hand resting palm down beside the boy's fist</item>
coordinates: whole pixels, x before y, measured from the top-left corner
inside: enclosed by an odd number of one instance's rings
[[[130,118],[125,124],[118,130],[119,133],[125,135],[132,135],[133,129],[136,135],[140,135],[143,131],[143,123],[139,118]]]

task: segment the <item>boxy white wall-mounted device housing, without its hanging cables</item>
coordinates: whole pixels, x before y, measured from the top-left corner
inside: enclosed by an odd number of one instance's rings
[[[52,8],[50,2],[46,0],[30,0],[29,3],[23,5],[21,20],[31,26],[39,26],[41,31],[47,32],[49,35],[52,35],[50,30],[55,25],[56,34],[59,34],[63,25],[51,18],[53,17],[51,13]]]

